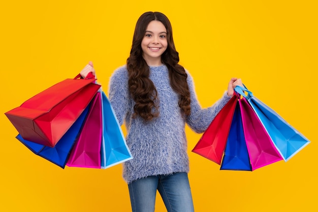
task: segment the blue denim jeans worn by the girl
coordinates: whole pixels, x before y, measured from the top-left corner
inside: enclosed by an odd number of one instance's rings
[[[148,176],[128,184],[133,212],[153,212],[156,191],[168,212],[193,212],[193,200],[187,173]]]

